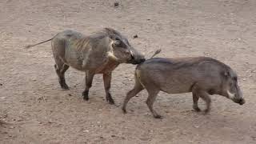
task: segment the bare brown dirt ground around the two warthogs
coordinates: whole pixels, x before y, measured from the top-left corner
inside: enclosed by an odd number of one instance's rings
[[[0,143],[256,143],[256,1],[254,0],[1,0]],[[96,75],[90,101],[82,99],[84,73],[70,69],[58,85],[50,42],[59,31],[90,34],[112,27],[146,56],[210,56],[237,71],[246,104],[213,95],[210,114],[192,110],[191,94],[160,93],[148,110],[146,91],[120,105],[134,85],[134,65],[114,70],[105,100]],[[138,34],[138,38],[133,38]],[[204,103],[199,101],[201,107]]]

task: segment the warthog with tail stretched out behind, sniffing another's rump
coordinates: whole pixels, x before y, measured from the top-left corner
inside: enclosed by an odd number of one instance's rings
[[[126,37],[111,28],[104,28],[89,36],[73,30],[65,30],[44,42],[48,41],[51,41],[56,62],[54,67],[62,89],[69,89],[64,74],[70,66],[86,72],[86,89],[82,93],[86,101],[89,99],[88,94],[94,74],[103,74],[106,101],[114,104],[110,94],[112,71],[120,63],[138,64],[145,61],[144,56],[130,46]],[[37,46],[44,42],[26,47]]]

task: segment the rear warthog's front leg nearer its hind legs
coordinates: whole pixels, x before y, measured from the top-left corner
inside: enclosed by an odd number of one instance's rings
[[[83,99],[88,101],[89,100],[89,90],[91,84],[93,83],[94,79],[94,72],[86,71],[86,90],[82,92]]]

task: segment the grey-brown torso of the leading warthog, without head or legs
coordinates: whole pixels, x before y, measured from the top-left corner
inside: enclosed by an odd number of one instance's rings
[[[154,85],[167,93],[191,91],[194,84],[214,87],[221,83],[220,73],[229,68],[213,58],[151,58],[136,69],[142,85]]]

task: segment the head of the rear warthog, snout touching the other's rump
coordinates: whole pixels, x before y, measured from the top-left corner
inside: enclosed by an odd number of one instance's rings
[[[118,62],[132,63],[134,65],[145,61],[144,55],[135,50],[133,46],[130,46],[127,38],[117,30],[110,28],[105,28],[105,30],[111,39],[111,49],[108,52],[110,58]]]

